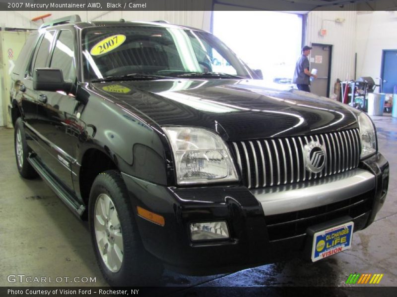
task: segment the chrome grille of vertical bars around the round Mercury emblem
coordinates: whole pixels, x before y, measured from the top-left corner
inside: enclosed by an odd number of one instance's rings
[[[319,142],[327,155],[325,167],[319,173],[311,173],[305,168],[303,148],[311,141]],[[285,185],[356,168],[361,150],[358,129],[232,142],[231,148],[248,188]]]

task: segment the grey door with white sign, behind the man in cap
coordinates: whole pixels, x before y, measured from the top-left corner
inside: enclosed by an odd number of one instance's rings
[[[311,82],[313,94],[330,97],[332,46],[312,44],[310,71],[317,69],[317,79]]]

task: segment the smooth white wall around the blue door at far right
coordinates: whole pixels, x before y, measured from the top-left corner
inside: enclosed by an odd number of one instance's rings
[[[382,49],[397,49],[397,12],[359,12],[356,20],[357,77],[380,77]],[[396,70],[397,71],[397,70]]]

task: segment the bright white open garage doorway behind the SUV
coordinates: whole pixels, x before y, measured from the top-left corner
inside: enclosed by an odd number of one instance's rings
[[[215,5],[212,33],[251,69],[260,69],[266,82],[292,85],[302,47],[303,16],[277,11],[230,11],[227,7],[231,6]]]

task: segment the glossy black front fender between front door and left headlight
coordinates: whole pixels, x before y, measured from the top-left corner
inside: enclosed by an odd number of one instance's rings
[[[96,148],[109,156],[121,172],[167,185],[168,143],[161,129],[117,99],[88,92],[89,100],[80,115],[86,130],[77,152],[77,162],[81,164],[85,152]]]

